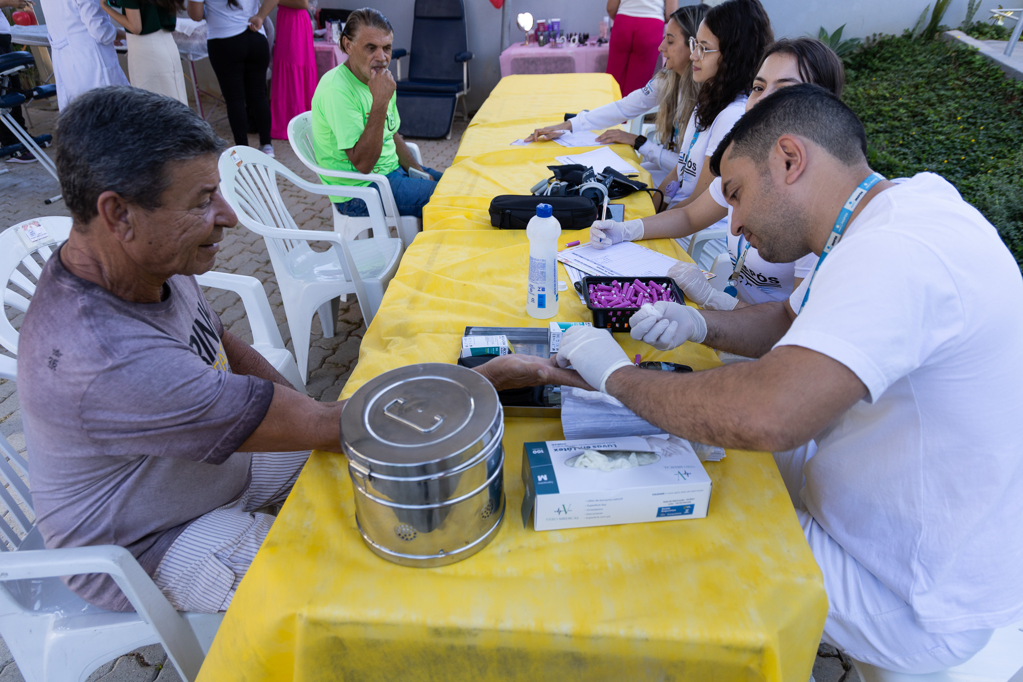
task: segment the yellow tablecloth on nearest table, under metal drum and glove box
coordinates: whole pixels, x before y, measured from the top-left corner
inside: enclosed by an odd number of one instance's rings
[[[647,245],[685,258],[670,240]],[[393,367],[453,362],[466,324],[544,326],[524,312],[527,261],[521,231],[420,234],[343,396]],[[560,320],[588,319],[571,291],[561,306]],[[702,346],[661,353],[618,337],[650,359],[717,364]],[[729,451],[706,465],[707,518],[537,533],[519,515],[522,444],[562,438],[561,424],[505,425],[503,527],[479,554],[439,569],[363,546],[344,459],[314,453],[198,679],[809,678],[828,601],[769,454]]]

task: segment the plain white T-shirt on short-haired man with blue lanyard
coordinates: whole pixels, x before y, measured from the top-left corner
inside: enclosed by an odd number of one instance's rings
[[[1021,302],[1019,265],[994,227],[921,173],[846,228],[777,343],[866,385],[815,437],[801,496],[931,632],[1023,618]]]

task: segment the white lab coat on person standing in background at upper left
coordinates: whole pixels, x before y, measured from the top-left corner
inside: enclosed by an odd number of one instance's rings
[[[57,105],[86,90],[128,85],[114,49],[117,28],[99,0],[42,0],[53,55]]]

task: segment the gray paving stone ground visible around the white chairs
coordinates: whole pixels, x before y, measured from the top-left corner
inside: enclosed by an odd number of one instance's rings
[[[33,135],[52,133],[55,120],[55,105],[33,106],[29,109],[30,132]],[[221,137],[230,139],[230,130],[222,108],[214,110],[211,123]],[[412,140],[419,145],[424,164],[437,170],[444,170],[450,166],[464,129],[465,123],[456,120],[450,140]],[[250,142],[253,145],[257,143],[255,136]],[[299,162],[286,140],[274,140],[273,146],[277,160],[284,166],[303,178],[317,181],[315,175]],[[45,198],[58,194],[60,189],[56,181],[39,164],[0,163],[0,170],[3,168],[9,169],[9,172],[0,174],[0,229],[39,216],[70,215],[62,202],[58,201],[51,206],[43,203]],[[306,195],[294,187],[282,189],[282,194],[300,228],[327,231],[332,229],[331,208],[325,198]],[[280,334],[287,349],[294,352],[280,291],[263,239],[241,226],[228,231],[221,244],[216,269],[252,275],[263,282]],[[238,297],[228,291],[216,290],[208,291],[207,297],[220,315],[224,326],[246,340],[252,342],[244,309]],[[14,313],[8,311],[8,317],[17,327],[21,316]],[[306,387],[310,396],[318,400],[338,399],[358,361],[359,344],[364,332],[362,313],[354,295],[350,295],[349,300],[341,305],[337,333],[333,337],[324,338],[318,318],[313,319],[309,351],[310,374]],[[16,387],[14,382],[3,379],[0,379],[0,434],[19,452],[25,452],[25,436],[21,429]],[[813,667],[816,682],[859,682],[855,670],[847,670],[848,668],[850,668],[848,662],[843,661],[838,651],[821,644]],[[13,656],[0,640],[0,682],[23,682],[23,680]],[[141,647],[100,666],[92,673],[88,682],[178,682],[179,680],[177,671],[168,661],[163,647],[155,644]]]

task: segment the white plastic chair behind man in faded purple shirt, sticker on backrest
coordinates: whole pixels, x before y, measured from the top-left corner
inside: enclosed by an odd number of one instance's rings
[[[18,232],[24,232],[27,226],[32,226],[37,234],[46,235],[31,249],[18,236]],[[4,305],[23,313],[29,310],[30,298],[35,294],[36,281],[43,271],[42,264],[53,254],[51,246],[68,240],[71,228],[71,218],[48,216],[23,221],[0,232],[0,281],[4,282]],[[255,277],[226,272],[208,272],[198,275],[196,279],[204,286],[228,289],[241,298],[253,332],[253,348],[291,381],[297,391],[306,393],[298,365],[284,348],[260,281]],[[20,289],[21,292],[15,289]],[[0,346],[17,355],[17,330],[6,315],[0,315]],[[13,358],[0,356],[0,377],[14,378],[16,367],[17,363]]]

